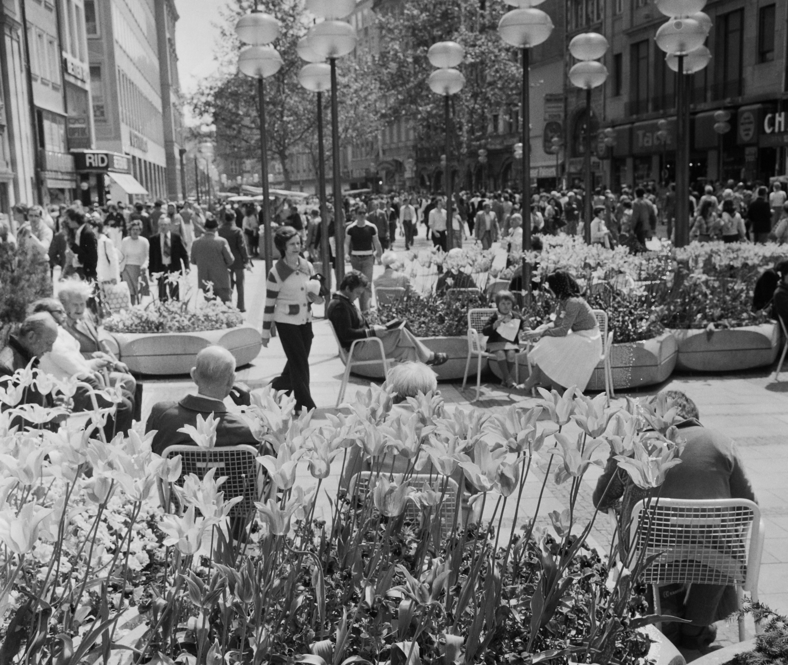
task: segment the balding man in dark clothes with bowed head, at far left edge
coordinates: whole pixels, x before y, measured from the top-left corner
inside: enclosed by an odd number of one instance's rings
[[[24,320],[16,335],[10,335],[8,344],[0,351],[0,388],[6,388],[12,383],[13,373],[24,370],[28,365],[33,369],[39,366],[39,359],[50,351],[54,340],[58,337],[58,324],[46,312],[31,314]],[[55,405],[51,394],[42,395],[35,385],[24,389],[20,404],[38,404],[39,407],[52,408]],[[6,405],[3,405],[6,411]],[[45,423],[45,429],[58,429],[61,417],[53,418]],[[31,425],[22,418],[14,418],[11,426]]]

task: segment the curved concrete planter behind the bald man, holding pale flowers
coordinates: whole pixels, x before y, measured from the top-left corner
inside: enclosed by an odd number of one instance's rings
[[[254,360],[262,347],[260,332],[251,325],[200,332],[117,332],[120,358],[139,374],[188,374],[195,356],[216,344],[235,356],[236,365]]]

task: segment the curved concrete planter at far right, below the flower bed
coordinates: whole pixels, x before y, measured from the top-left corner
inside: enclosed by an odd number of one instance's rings
[[[730,372],[775,362],[780,331],[776,323],[714,330],[672,330],[678,340],[677,370]]]

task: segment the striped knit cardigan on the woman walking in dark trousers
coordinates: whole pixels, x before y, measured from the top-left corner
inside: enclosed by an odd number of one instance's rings
[[[304,325],[312,321],[307,297],[307,282],[314,275],[312,264],[299,258],[299,266],[292,269],[284,259],[273,264],[266,282],[266,308],[262,314],[262,337],[276,335],[274,322]]]

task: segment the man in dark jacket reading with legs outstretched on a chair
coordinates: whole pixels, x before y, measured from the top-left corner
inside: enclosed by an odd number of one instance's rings
[[[366,275],[352,272],[344,276],[340,290],[325,308],[325,316],[331,321],[336,337],[342,347],[350,349],[353,340],[364,340],[367,337],[380,337],[387,359],[396,362],[425,362],[427,365],[443,365],[448,360],[444,353],[430,351],[407,328],[397,325],[389,330],[385,325],[370,326],[354,303],[370,284]],[[380,359],[380,347],[372,344],[357,345],[353,352],[354,360]]]

